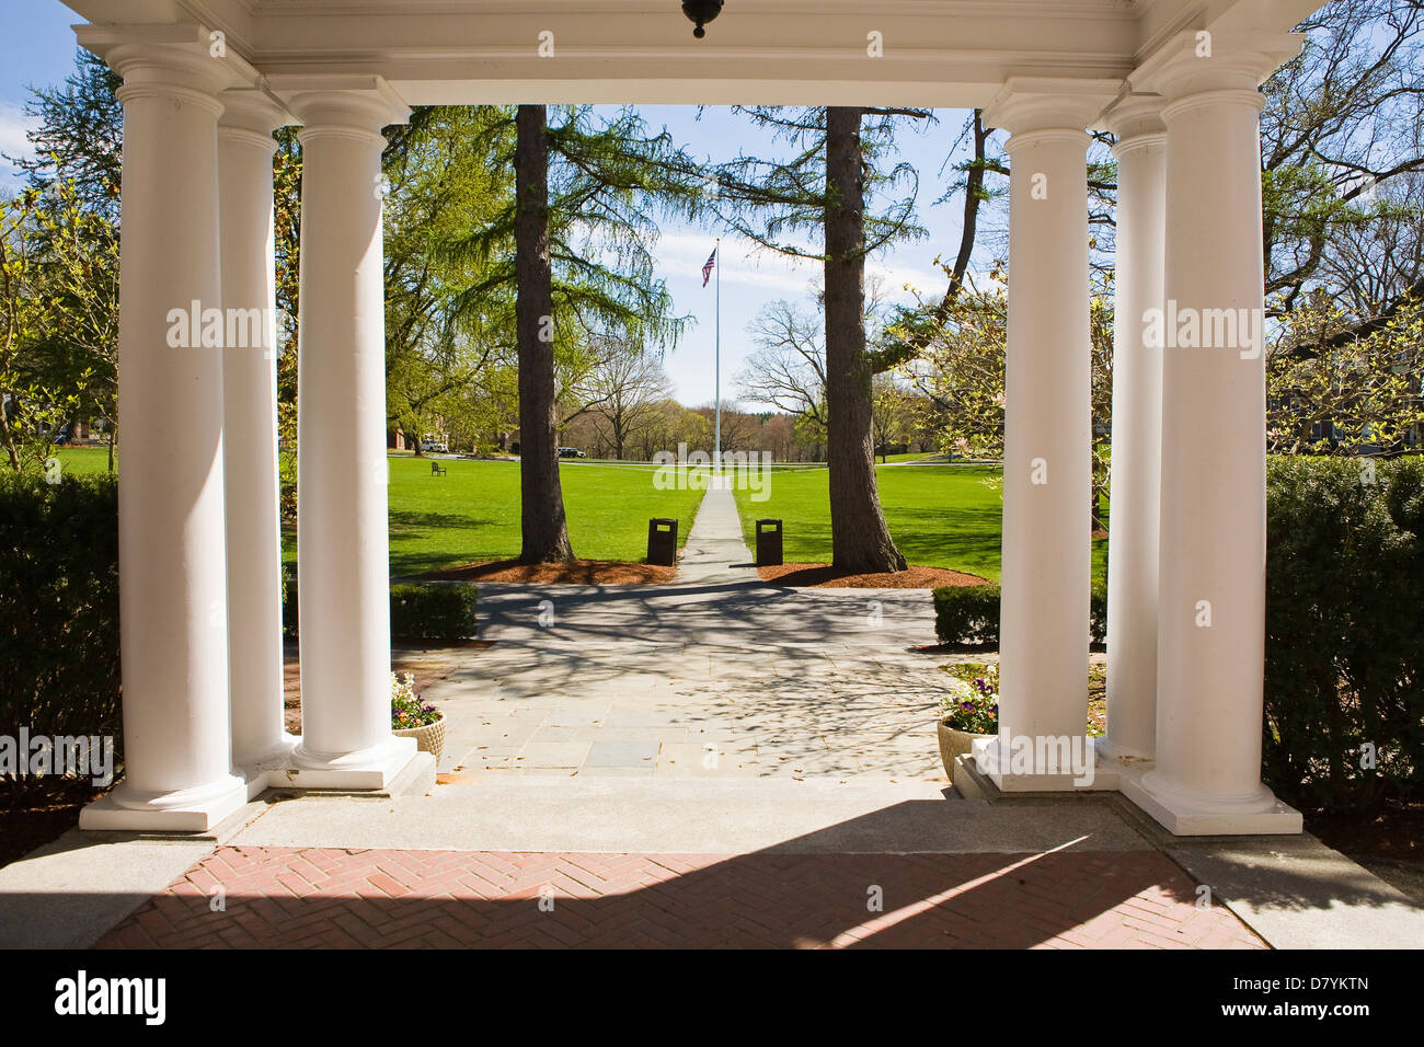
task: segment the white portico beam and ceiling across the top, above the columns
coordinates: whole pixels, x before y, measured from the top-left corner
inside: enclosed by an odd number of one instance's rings
[[[977,107],[1010,77],[1121,83],[1183,30],[1280,33],[1319,6],[728,0],[706,38],[695,40],[678,0],[64,1],[101,26],[188,26],[202,37],[221,31],[253,80],[382,77],[412,105]],[[883,41],[883,57],[869,53],[871,33]]]

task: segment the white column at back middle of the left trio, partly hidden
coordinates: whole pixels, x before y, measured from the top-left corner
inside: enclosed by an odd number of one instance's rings
[[[290,118],[259,91],[225,91],[218,123],[222,360],[228,501],[228,660],[232,762],[285,755],[282,534],[276,456],[276,275],[272,131]],[[256,336],[256,338],[255,338]],[[251,789],[261,775],[248,773]]]

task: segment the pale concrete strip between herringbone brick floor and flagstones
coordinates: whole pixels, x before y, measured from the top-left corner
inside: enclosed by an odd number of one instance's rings
[[[303,796],[272,806],[232,843],[723,855],[1151,849],[1101,806],[994,808],[934,783],[497,775],[379,806]]]

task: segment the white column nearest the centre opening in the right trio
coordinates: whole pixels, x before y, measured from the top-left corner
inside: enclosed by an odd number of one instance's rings
[[[1074,768],[1091,775],[1092,766],[1084,125],[1105,100],[1071,90],[1015,91],[985,114],[1012,137],[1000,734],[975,759],[1005,791],[1074,788]]]

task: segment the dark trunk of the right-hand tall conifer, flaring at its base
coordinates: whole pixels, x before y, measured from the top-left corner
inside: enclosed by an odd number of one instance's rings
[[[876,486],[866,359],[864,175],[860,110],[826,110],[826,406],[830,544],[837,568],[903,571]]]

